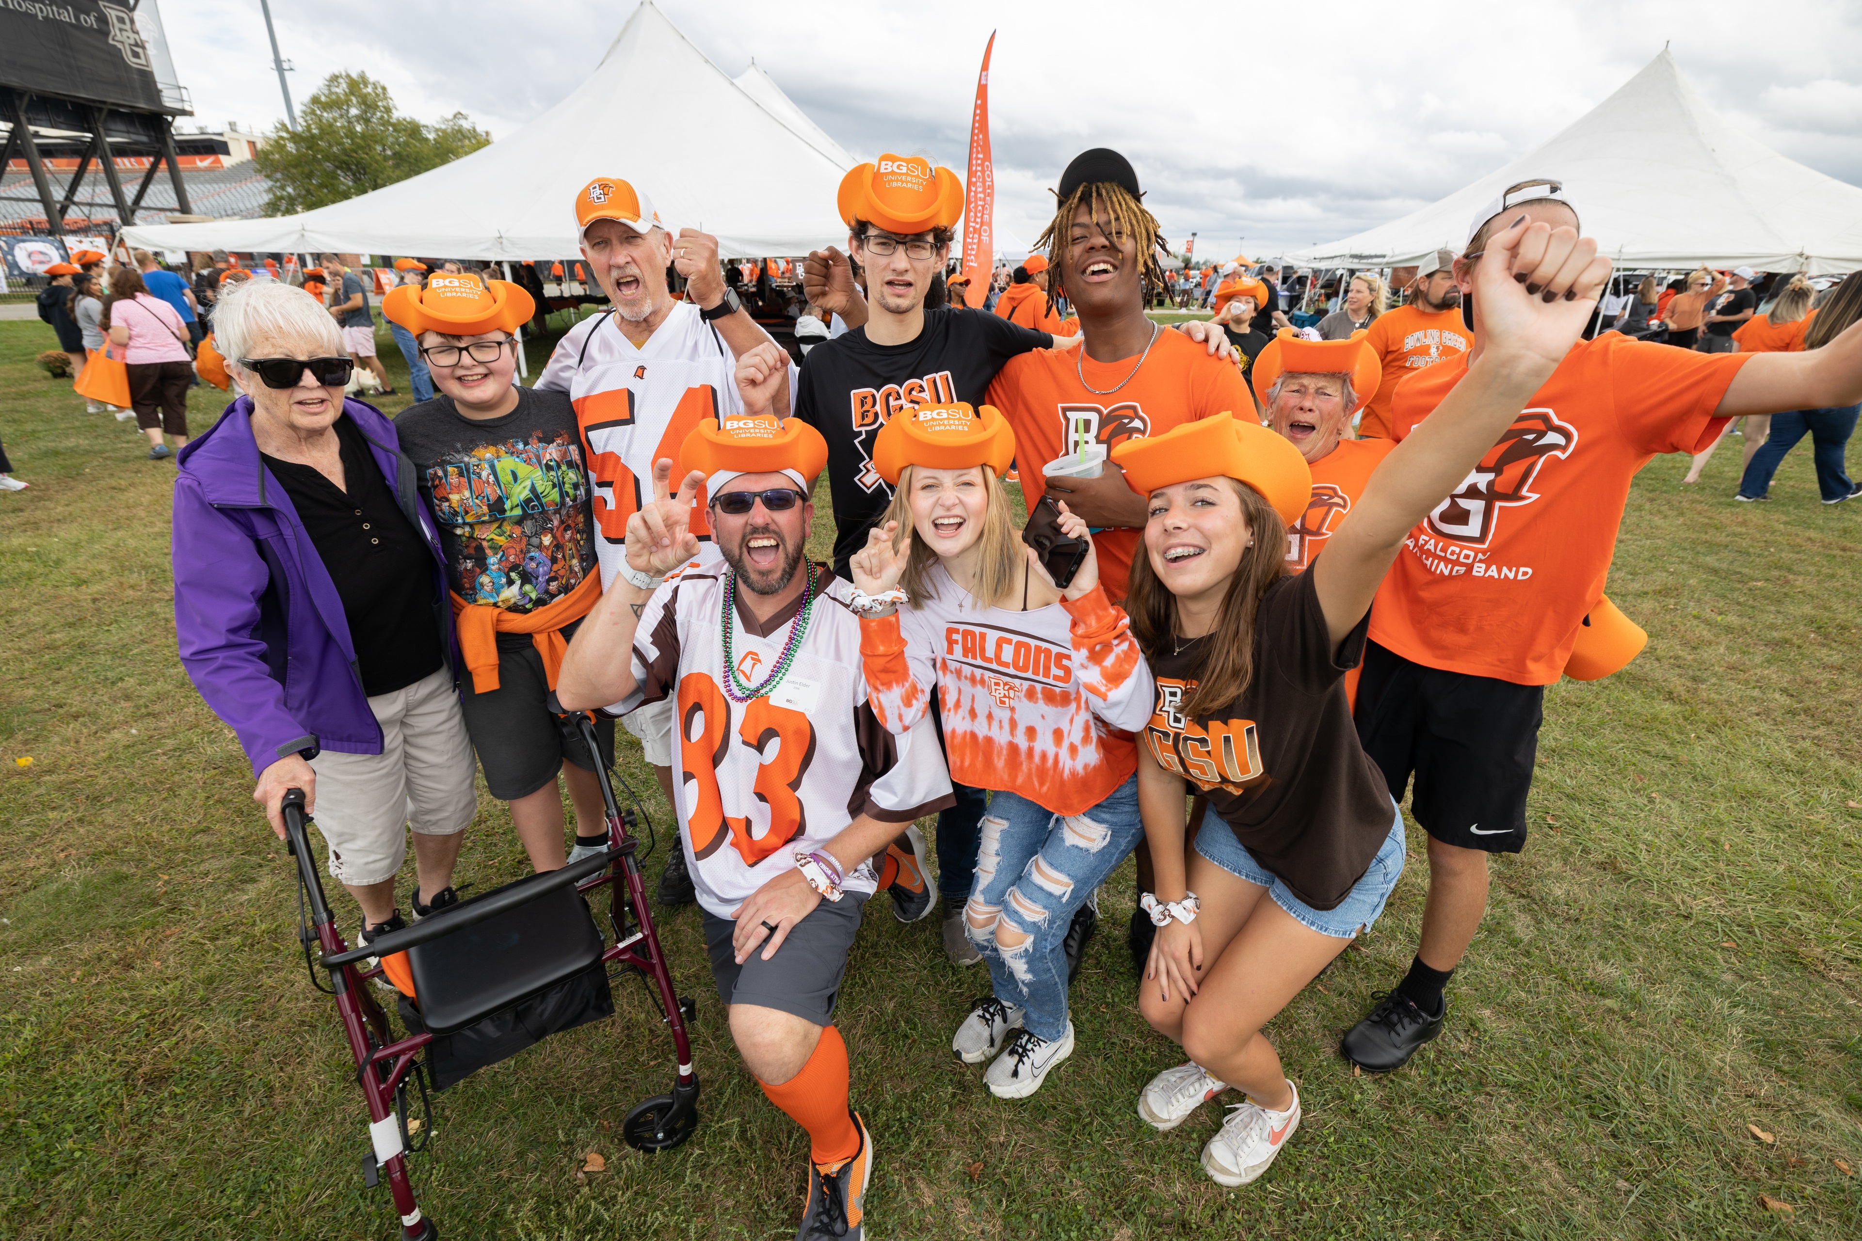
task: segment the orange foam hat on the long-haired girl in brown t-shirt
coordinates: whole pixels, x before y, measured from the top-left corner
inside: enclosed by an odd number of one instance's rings
[[[1246,482],[1287,525],[1298,521],[1313,499],[1313,467],[1292,441],[1229,413],[1212,413],[1162,435],[1134,435],[1112,447],[1112,460],[1138,495],[1216,474]]]

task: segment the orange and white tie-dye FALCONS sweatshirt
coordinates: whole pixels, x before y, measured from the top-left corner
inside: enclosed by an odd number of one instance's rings
[[[1028,612],[983,608],[942,566],[931,597],[860,621],[868,701],[909,731],[938,690],[950,776],[1084,815],[1138,768],[1151,668],[1104,588]]]

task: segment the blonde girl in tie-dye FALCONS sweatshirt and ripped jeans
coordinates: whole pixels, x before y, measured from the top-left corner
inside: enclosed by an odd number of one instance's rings
[[[873,467],[897,491],[853,558],[873,714],[903,733],[937,694],[951,780],[991,791],[963,919],[992,990],[951,1051],[994,1055],[983,1083],[1005,1100],[1073,1053],[1065,940],[1143,835],[1130,735],[1151,713],[1151,674],[1099,584],[1086,521],[1043,500],[1033,523],[1065,545],[1046,560],[1024,547],[1000,482],[1013,460],[992,406],[894,415]]]

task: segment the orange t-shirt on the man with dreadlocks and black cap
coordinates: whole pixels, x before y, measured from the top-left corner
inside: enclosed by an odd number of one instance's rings
[[[1255,402],[1248,396],[1242,372],[1181,331],[1164,327],[1151,355],[1097,363],[1071,350],[1032,350],[1011,357],[989,385],[989,404],[1002,411],[1015,432],[1015,461],[1022,474],[1028,512],[1041,499],[1041,467],[1067,450],[1067,426],[1089,419],[1093,441],[1108,448],[1132,435],[1162,435],[1173,426],[1214,415],[1251,419]],[[1076,370],[1078,368],[1078,370]],[[1086,383],[1099,393],[1080,385]],[[1121,383],[1130,376],[1130,381]],[[1117,391],[1110,391],[1117,389]],[[1106,469],[1117,465],[1106,463]],[[1125,580],[1141,530],[1100,530],[1093,536],[1099,553],[1099,580],[1113,603],[1125,601]]]

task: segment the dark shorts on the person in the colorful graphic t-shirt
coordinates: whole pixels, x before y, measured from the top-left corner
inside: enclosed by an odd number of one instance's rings
[[[484,785],[499,802],[531,796],[557,778],[564,759],[585,772],[594,770],[581,729],[551,714],[547,696],[544,657],[529,634],[497,634],[495,690],[473,692],[471,672],[462,679],[466,731],[479,752]],[[601,742],[601,763],[614,767],[614,722],[596,718],[594,735]]]

